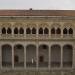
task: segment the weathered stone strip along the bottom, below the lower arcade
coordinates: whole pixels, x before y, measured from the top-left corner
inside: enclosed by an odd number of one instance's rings
[[[75,71],[1,71],[0,75],[75,75]]]

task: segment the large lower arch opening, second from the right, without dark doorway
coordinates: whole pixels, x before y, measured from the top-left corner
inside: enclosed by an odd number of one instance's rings
[[[61,46],[54,44],[51,46],[51,67],[60,67],[61,64]]]

